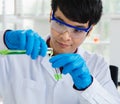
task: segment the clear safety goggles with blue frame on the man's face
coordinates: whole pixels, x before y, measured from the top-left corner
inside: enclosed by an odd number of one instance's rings
[[[58,32],[60,34],[68,31],[69,35],[72,38],[81,38],[81,37],[85,36],[91,28],[91,26],[89,26],[88,28],[80,28],[77,26],[72,26],[70,24],[67,24],[67,23],[57,19],[54,16],[54,13],[52,14],[52,17],[51,17],[51,27],[52,27],[52,29],[54,29],[56,32]]]

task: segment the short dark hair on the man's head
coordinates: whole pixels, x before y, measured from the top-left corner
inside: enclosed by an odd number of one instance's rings
[[[52,0],[53,12],[59,8],[70,20],[89,25],[97,24],[102,15],[101,0]]]

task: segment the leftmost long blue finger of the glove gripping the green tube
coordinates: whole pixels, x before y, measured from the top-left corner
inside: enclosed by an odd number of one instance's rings
[[[26,31],[26,54],[30,55],[33,51],[35,33],[32,30]]]

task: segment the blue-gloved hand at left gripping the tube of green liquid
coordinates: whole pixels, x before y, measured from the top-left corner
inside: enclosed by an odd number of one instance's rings
[[[47,53],[45,41],[32,30],[8,30],[4,34],[4,42],[9,49],[26,50],[32,59]]]

